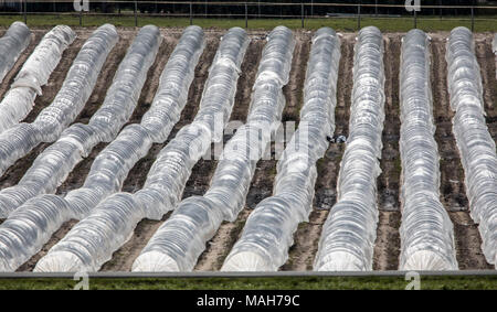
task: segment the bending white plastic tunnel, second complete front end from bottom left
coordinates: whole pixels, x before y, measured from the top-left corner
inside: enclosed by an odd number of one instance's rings
[[[295,41],[285,26],[267,37],[253,87],[247,121],[228,142],[204,196],[182,201],[159,227],[133,271],[190,271],[223,218],[243,208],[257,160],[271,140],[271,127],[279,120]]]

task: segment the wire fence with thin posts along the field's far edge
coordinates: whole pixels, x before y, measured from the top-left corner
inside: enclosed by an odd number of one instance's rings
[[[287,1],[129,1],[129,0],[0,0],[0,17],[22,17],[24,23],[31,18],[57,17],[74,19],[76,24],[85,25],[88,18],[108,18],[126,20],[129,25],[138,26],[140,20],[149,18],[183,19],[189,24],[199,19],[230,19],[242,21],[250,28],[254,21],[276,19],[294,20],[300,28],[308,22],[319,19],[353,21],[353,28],[360,29],[363,21],[374,24],[374,21],[402,19],[410,28],[419,28],[420,21],[446,21],[457,19],[467,22],[467,26],[475,30],[477,23],[495,24],[497,30],[497,6],[482,3],[482,1],[465,1],[470,4],[444,6],[421,4],[421,1],[398,1],[399,4],[378,3],[328,3],[328,2],[287,2]],[[411,4],[406,4],[406,3]],[[431,1],[436,2],[436,1]],[[419,4],[416,4],[419,3]],[[131,23],[129,23],[131,20]],[[215,23],[214,23],[215,24]],[[257,23],[253,24],[255,28]]]

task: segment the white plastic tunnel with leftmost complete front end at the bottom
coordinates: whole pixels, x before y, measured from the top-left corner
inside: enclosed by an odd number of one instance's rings
[[[117,193],[102,202],[50,250],[36,270],[96,271],[133,235],[140,219],[160,219],[176,206],[193,164],[214,139],[209,122],[219,112],[225,114],[220,122],[225,125],[230,118],[247,44],[248,37],[240,28],[222,37],[195,119],[161,150],[145,187],[136,194]]]

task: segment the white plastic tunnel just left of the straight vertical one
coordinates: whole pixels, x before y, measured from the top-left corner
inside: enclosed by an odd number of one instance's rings
[[[384,120],[383,40],[374,26],[357,37],[349,138],[340,163],[337,203],[322,226],[314,270],[371,270],[377,236],[377,177]]]

